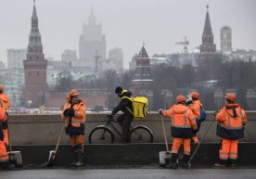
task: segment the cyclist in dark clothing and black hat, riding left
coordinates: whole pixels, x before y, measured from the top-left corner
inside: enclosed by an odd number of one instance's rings
[[[134,109],[133,102],[131,99],[132,92],[122,89],[121,86],[116,87],[115,94],[120,97],[120,102],[117,107],[112,109],[111,114],[107,116],[113,118],[113,116],[118,112],[122,111],[122,115],[117,118],[117,122],[122,126],[122,143],[129,142],[128,134],[130,132],[131,123],[134,120]]]

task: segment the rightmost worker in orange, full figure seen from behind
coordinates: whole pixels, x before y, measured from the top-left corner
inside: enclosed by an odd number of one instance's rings
[[[225,96],[225,106],[219,112],[215,112],[215,119],[218,121],[217,135],[222,138],[219,163],[216,167],[236,166],[237,163],[237,142],[244,137],[244,126],[247,121],[245,110],[236,102],[234,94]]]

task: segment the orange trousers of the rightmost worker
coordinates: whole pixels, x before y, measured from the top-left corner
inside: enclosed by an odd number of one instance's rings
[[[222,138],[222,148],[220,149],[220,160],[237,160],[238,140]]]

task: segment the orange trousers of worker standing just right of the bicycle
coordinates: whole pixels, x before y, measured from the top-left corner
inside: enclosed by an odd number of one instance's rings
[[[184,154],[190,155],[190,140],[191,138],[173,138],[173,147],[172,147],[172,153],[177,154],[179,152],[179,149],[184,143]]]

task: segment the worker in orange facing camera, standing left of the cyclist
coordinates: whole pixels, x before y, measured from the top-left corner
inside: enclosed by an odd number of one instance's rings
[[[65,131],[70,135],[70,144],[75,155],[71,165],[81,167],[83,166],[85,104],[76,90],[71,90],[66,100],[67,104],[64,105],[61,117],[68,121],[66,121]]]

